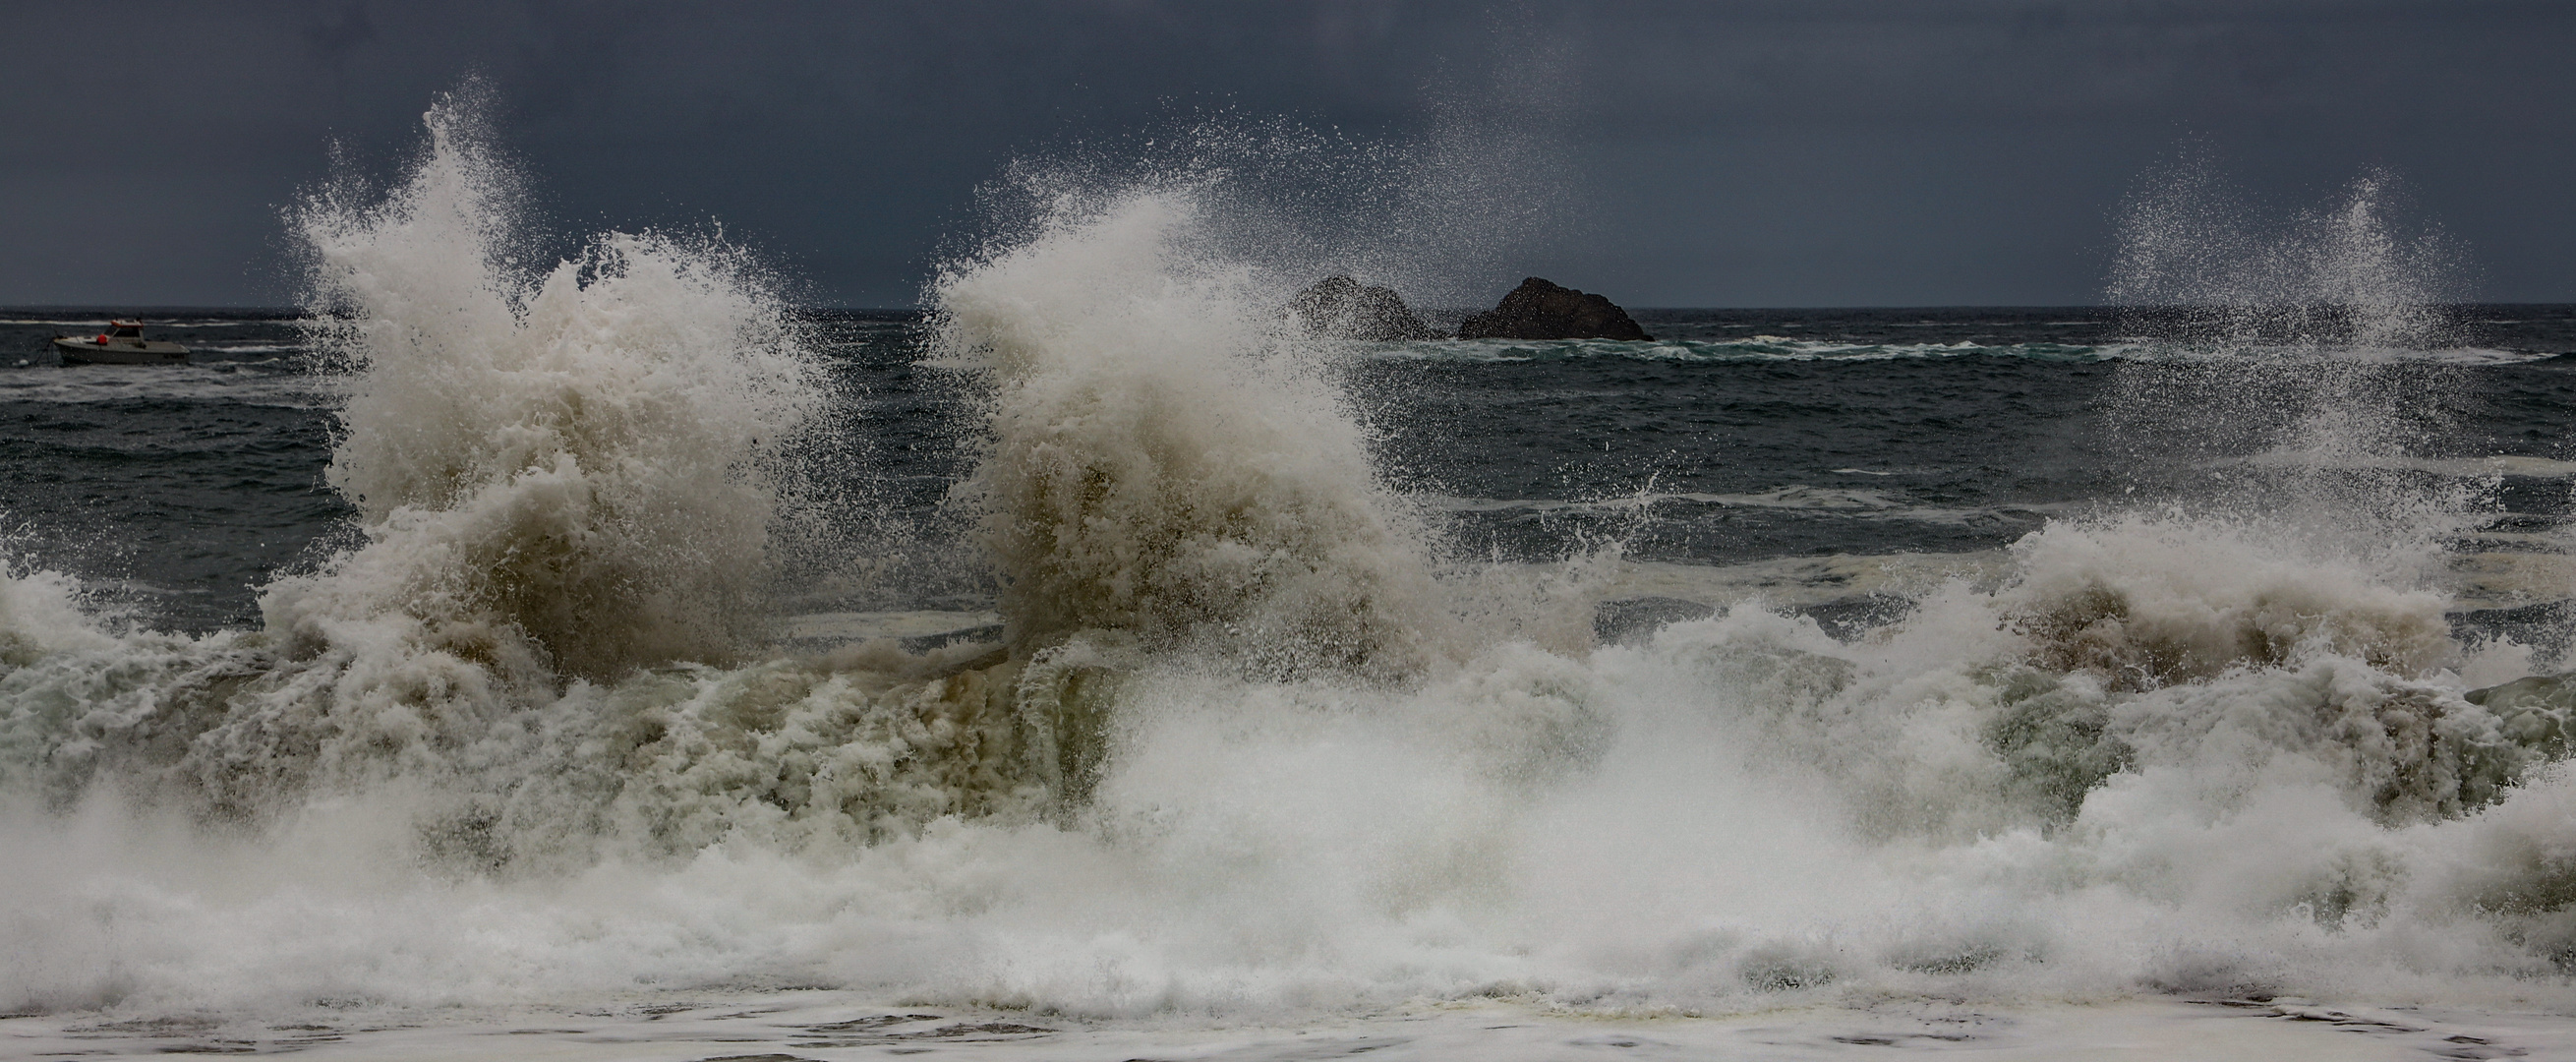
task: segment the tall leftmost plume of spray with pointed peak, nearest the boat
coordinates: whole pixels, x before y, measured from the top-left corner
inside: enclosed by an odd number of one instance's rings
[[[343,180],[291,211],[348,387],[330,485],[366,541],[270,588],[270,626],[417,626],[567,675],[726,655],[765,580],[765,464],[819,405],[786,304],[711,240],[611,232],[531,268],[479,93],[425,124],[381,201]]]

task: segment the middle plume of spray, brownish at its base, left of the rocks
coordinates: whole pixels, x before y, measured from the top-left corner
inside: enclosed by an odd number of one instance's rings
[[[1401,673],[1437,637],[1419,531],[1188,188],[1066,209],[951,268],[940,340],[992,366],[969,492],[1020,644],[1128,632],[1265,670]]]

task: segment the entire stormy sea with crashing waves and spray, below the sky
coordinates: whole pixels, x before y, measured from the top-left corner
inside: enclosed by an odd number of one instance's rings
[[[430,126],[0,314],[5,1057],[2576,1057],[2576,307],[2372,178],[1345,343],[1221,175],[835,312]]]

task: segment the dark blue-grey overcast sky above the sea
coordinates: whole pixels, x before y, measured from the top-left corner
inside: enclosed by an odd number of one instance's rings
[[[554,227],[714,219],[829,304],[914,302],[1012,157],[1218,108],[1548,186],[1476,266],[1492,294],[2097,302],[2123,198],[2195,139],[2277,211],[2383,168],[2478,266],[2465,294],[2576,302],[2571,3],[0,0],[0,304],[291,302],[278,209],[332,142],[392,173],[469,72]]]

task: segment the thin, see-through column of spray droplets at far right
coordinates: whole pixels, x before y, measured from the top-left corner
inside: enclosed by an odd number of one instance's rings
[[[2205,152],[2151,175],[2120,217],[2105,296],[2146,345],[2107,423],[2141,472],[2202,469],[2169,505],[2339,554],[2396,580],[2442,565],[2478,485],[2427,482],[2411,451],[2445,430],[2463,250],[2398,222],[2398,180],[2264,217]],[[2154,482],[2148,482],[2154,487]]]

